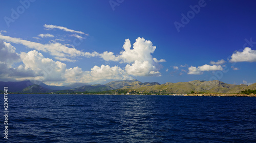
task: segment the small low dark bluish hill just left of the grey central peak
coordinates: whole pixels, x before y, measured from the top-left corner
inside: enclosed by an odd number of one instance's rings
[[[102,84],[94,84],[94,85],[84,85],[82,87],[79,88],[75,88],[73,89],[74,91],[77,92],[102,92],[102,91],[109,91],[109,90],[113,90],[113,88],[106,86],[106,85],[102,85]]]

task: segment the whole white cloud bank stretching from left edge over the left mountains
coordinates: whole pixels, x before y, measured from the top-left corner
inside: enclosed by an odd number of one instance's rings
[[[99,82],[107,79],[123,80],[133,79],[122,68],[109,65],[94,66],[90,71],[82,71],[79,67],[67,69],[67,65],[59,61],[45,58],[37,50],[16,53],[16,48],[10,43],[3,42],[0,45],[0,78],[2,80],[38,80],[48,84],[57,82]],[[69,61],[69,59],[58,58]],[[13,68],[14,63],[20,63]],[[73,62],[73,61],[69,61]],[[59,84],[60,85],[60,84]]]

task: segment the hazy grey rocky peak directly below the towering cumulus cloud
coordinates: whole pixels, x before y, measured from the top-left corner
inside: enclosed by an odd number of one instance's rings
[[[152,85],[160,85],[158,82],[145,82],[142,83],[136,79],[133,80],[119,80],[119,81],[111,81],[109,83],[104,84],[113,89],[137,89],[140,87],[147,87]]]

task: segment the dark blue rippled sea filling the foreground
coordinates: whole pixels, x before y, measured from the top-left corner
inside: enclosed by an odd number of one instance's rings
[[[253,97],[8,96],[2,142],[256,142]]]

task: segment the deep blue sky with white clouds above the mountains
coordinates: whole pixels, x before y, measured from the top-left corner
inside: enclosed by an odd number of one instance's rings
[[[0,1],[0,81],[256,82],[254,1]]]

